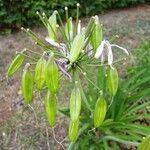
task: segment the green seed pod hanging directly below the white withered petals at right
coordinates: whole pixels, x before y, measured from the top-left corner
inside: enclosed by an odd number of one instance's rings
[[[116,68],[109,68],[107,73],[107,86],[111,96],[115,96],[118,90],[118,72]]]

